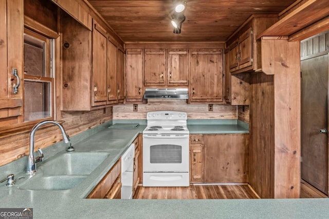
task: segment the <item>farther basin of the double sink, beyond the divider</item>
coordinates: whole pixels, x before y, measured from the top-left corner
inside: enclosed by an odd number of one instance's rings
[[[61,154],[40,165],[44,175],[89,175],[108,156],[103,152],[72,152]]]

